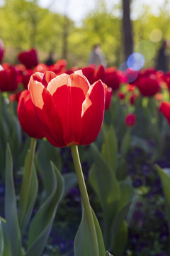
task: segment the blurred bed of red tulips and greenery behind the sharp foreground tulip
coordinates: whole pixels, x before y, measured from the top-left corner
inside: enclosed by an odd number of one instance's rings
[[[9,144],[13,158],[17,201],[24,159],[30,145],[30,137],[22,131],[18,121],[17,106],[21,92],[28,89],[30,76],[35,72],[52,71],[55,75],[70,75],[81,69],[91,85],[100,79],[108,86],[105,116],[101,132],[94,142],[95,148],[91,145],[79,146],[89,199],[105,234],[104,241],[115,256],[169,256],[170,194],[166,181],[170,181],[170,71],[164,73],[147,68],[123,72],[102,65],[98,68],[89,65],[67,69],[66,60],[58,60],[54,65],[47,66],[38,63],[35,49],[21,53],[18,56],[21,64],[14,66],[3,63],[3,54],[0,56],[0,216],[5,218],[6,144]],[[46,139],[38,140],[35,151],[39,186],[30,220],[50,189],[45,181],[50,161],[60,170],[65,187],[42,255],[74,256],[74,238],[81,221],[81,196],[74,175],[72,154],[69,148],[55,148]],[[111,216],[109,210],[104,212],[107,201],[102,201],[102,184],[99,190],[96,186],[94,163],[98,171],[100,166],[103,170],[111,167],[114,172],[113,184],[117,189],[112,186],[113,198],[119,190],[123,196],[113,201]],[[106,188],[107,183],[104,182]],[[124,201],[125,205],[121,206]],[[113,218],[113,222],[115,220],[114,225],[107,223],[107,214]],[[27,246],[27,242],[26,232],[23,247]]]

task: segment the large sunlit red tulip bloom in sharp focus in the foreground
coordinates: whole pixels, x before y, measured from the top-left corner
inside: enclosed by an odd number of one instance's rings
[[[93,85],[81,70],[71,75],[35,73],[28,85],[40,125],[54,146],[87,145],[101,129],[106,85]]]

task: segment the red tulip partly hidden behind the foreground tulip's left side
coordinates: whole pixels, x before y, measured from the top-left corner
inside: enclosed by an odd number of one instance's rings
[[[21,127],[29,137],[36,139],[42,139],[44,137],[28,90],[21,92],[18,100],[17,113]]]

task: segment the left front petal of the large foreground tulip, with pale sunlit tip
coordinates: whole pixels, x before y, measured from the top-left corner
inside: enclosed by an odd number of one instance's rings
[[[29,90],[45,137],[53,146],[66,146],[63,140],[62,122],[52,96],[40,82],[30,82]]]

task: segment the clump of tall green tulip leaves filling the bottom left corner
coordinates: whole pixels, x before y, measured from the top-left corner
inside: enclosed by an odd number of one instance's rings
[[[16,205],[16,192],[13,183],[13,160],[9,145],[6,149],[6,193],[5,193],[5,221],[0,220],[0,252],[2,256],[41,255],[49,237],[52,224],[55,219],[57,207],[62,199],[64,182],[55,164],[51,162],[47,179],[51,183],[51,191],[46,200],[40,206],[38,213],[34,215],[30,223],[30,215],[33,214],[33,206],[37,198],[38,181],[35,166],[32,166],[30,186],[27,186],[29,175],[29,154],[26,155],[24,166],[23,186],[19,201],[19,213]],[[28,196],[28,198],[27,198]],[[21,228],[18,218],[21,218]],[[2,228],[1,228],[2,226]],[[24,230],[28,226],[28,248],[23,250]],[[22,236],[21,236],[22,230]]]

